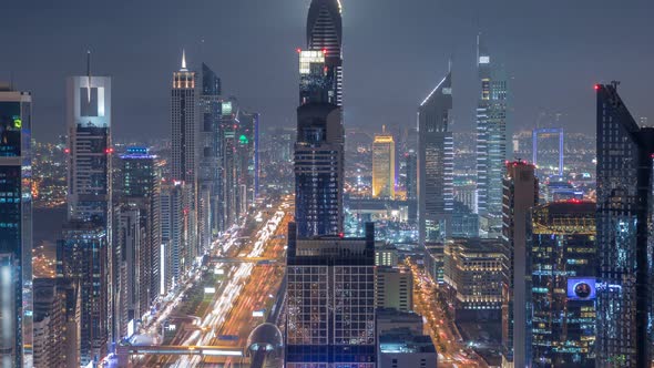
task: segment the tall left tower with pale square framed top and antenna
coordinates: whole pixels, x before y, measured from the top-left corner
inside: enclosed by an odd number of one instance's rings
[[[104,357],[113,325],[111,78],[68,80],[68,217],[58,276],[79,285],[82,365]]]

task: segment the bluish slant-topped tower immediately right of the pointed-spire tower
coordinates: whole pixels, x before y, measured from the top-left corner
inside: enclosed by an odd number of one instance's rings
[[[200,95],[200,157],[197,168],[198,225],[201,244],[208,246],[212,234],[224,231],[221,222],[221,79],[205,63],[202,64]]]

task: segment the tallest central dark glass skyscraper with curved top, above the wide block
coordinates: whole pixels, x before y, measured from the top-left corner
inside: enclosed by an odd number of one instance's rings
[[[300,106],[295,144],[295,221],[299,237],[343,233],[340,11],[337,0],[313,0],[307,18],[309,50],[299,50]]]

